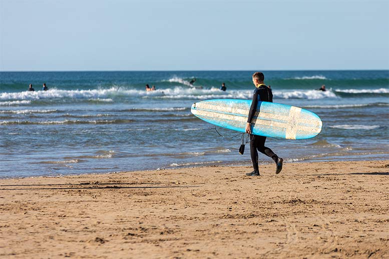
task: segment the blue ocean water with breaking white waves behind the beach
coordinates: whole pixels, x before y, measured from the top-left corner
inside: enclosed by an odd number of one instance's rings
[[[253,72],[0,72],[0,177],[250,165],[238,132],[219,127],[220,136],[190,107],[251,99]],[[311,139],[267,139],[285,161],[389,159],[388,70],[263,72],[274,102],[323,121]],[[157,89],[146,92],[146,83]],[[327,91],[315,90],[322,84]],[[263,154],[259,161],[272,162]]]

